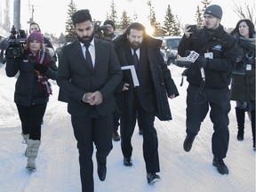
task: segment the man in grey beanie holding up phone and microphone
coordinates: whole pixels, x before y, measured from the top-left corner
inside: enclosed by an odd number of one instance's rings
[[[209,5],[204,11],[204,28],[189,32],[189,26],[185,26],[178,53],[181,57],[187,56],[188,51],[195,51],[200,55],[186,72],[188,81],[187,136],[183,148],[186,152],[192,148],[193,141],[210,107],[214,131],[212,134],[212,165],[220,174],[228,174],[228,167],[223,159],[228,152],[228,113],[230,111],[228,85],[236,62],[236,40],[229,36],[221,26],[221,18],[220,5]]]

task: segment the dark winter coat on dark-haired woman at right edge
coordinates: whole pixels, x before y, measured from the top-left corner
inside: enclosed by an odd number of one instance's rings
[[[247,40],[234,36],[238,62],[232,74],[231,100],[250,102],[255,100],[255,36]]]

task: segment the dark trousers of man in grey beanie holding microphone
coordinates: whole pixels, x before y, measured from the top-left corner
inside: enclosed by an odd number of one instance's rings
[[[198,87],[188,85],[187,93],[187,134],[196,136],[209,107],[211,107],[210,118],[214,131],[212,134],[212,154],[221,159],[225,158],[229,142],[228,113],[231,109],[228,88],[223,90],[205,88],[202,92],[198,92]]]

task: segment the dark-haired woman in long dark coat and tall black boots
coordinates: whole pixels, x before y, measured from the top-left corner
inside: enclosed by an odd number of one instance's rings
[[[239,20],[230,35],[238,47],[231,82],[231,100],[236,100],[237,140],[244,140],[244,114],[251,113],[252,148],[255,150],[255,29],[251,20]]]

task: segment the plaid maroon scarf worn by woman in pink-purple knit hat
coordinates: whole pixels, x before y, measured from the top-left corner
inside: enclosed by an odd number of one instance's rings
[[[33,62],[39,63],[41,65],[49,66],[51,63],[51,57],[46,52],[45,48],[41,49],[39,52],[28,51],[28,58]],[[39,71],[35,70],[37,82],[39,83],[40,89],[42,89],[47,95],[52,94],[52,85],[48,81],[48,77],[41,74]]]

